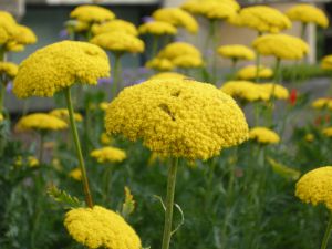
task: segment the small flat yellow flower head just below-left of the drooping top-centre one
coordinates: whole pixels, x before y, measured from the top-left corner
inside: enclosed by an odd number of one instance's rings
[[[177,33],[177,29],[174,25],[162,21],[146,22],[138,27],[138,31],[141,34],[151,33],[154,35],[174,35]]]

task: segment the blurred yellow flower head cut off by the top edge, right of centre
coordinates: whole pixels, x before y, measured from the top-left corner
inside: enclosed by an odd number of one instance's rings
[[[237,14],[240,6],[234,0],[188,0],[181,8],[207,19],[230,20]]]

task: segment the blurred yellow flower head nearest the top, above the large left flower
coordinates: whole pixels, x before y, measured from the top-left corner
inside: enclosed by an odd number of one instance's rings
[[[70,14],[72,19],[82,22],[105,22],[115,19],[115,14],[98,6],[79,6]]]

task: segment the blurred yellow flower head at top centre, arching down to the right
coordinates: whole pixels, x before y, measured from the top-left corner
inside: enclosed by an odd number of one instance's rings
[[[175,27],[183,27],[190,33],[197,33],[198,31],[197,21],[190,13],[179,8],[158,9],[152,17],[157,21],[168,22]]]

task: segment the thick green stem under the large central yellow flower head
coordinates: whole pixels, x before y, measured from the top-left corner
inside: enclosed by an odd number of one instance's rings
[[[166,210],[165,210],[165,224],[164,224],[164,236],[163,236],[162,249],[169,248],[169,242],[172,237],[174,191],[175,191],[177,165],[178,165],[178,158],[173,158],[173,162],[168,168]]]

